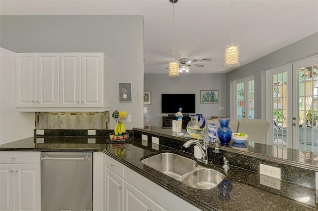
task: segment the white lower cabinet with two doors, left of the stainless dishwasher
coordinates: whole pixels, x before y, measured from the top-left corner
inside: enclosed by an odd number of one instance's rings
[[[0,160],[0,210],[41,210],[40,153],[1,151]]]

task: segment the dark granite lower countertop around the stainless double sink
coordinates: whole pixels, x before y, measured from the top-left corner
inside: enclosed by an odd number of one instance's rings
[[[44,138],[44,140],[42,138]],[[318,208],[315,203],[314,188],[280,180],[280,190],[277,190],[260,185],[260,175],[257,172],[230,165],[229,171],[225,173],[222,167],[209,162],[207,167],[216,169],[225,174],[226,179],[231,181],[233,185],[232,191],[229,193],[231,199],[220,198],[220,189],[218,187],[210,190],[199,190],[187,187],[183,183],[140,162],[142,158],[149,157],[162,151],[172,151],[195,159],[191,151],[176,150],[163,145],[155,146],[151,141],[146,141],[148,146],[144,146],[142,143],[145,144],[145,141],[142,141],[140,138],[133,138],[131,142],[125,144],[107,143],[106,139],[107,137],[101,136],[30,137],[2,144],[0,145],[0,151],[104,152],[164,189],[204,211],[301,211],[317,210]],[[118,156],[114,150],[117,147],[126,148],[126,153],[123,156]],[[158,147],[159,150],[155,150],[152,147]],[[200,163],[200,165],[205,164]]]

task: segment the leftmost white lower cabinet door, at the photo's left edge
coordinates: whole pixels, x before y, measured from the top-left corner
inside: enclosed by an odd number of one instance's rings
[[[14,165],[0,164],[0,210],[14,210]]]

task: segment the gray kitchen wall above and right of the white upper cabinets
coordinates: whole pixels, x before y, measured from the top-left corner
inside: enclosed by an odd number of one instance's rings
[[[0,47],[16,53],[104,52],[112,65],[110,112],[132,114],[130,129],[143,126],[143,27],[142,15],[0,16]],[[119,103],[119,82],[132,82],[132,103]]]

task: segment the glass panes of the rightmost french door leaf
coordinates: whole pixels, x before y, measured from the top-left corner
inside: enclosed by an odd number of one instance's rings
[[[318,151],[318,65],[298,68],[299,149]]]

